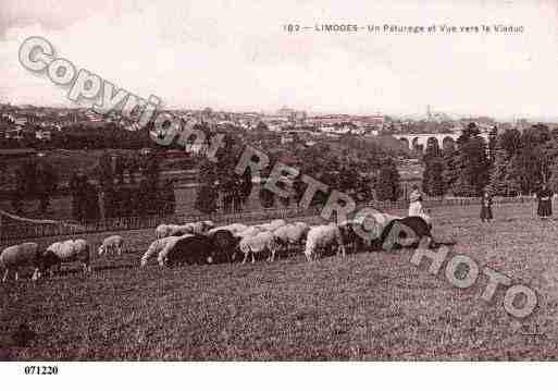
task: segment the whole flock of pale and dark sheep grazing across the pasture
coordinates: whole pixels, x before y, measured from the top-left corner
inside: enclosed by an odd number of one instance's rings
[[[381,244],[395,221],[411,227],[419,236],[430,235],[430,225],[417,217],[400,218],[388,213],[376,213],[364,221],[349,220],[340,224],[330,223],[309,225],[306,222],[287,223],[272,220],[269,223],[246,225],[232,223],[214,227],[212,221],[198,221],[187,224],[161,224],[156,229],[156,240],[141,256],[140,266],[157,257],[160,266],[176,266],[195,262],[235,261],[265,255],[270,261],[276,253],[289,248],[303,248],[307,260],[317,260],[324,253],[336,251],[346,256],[346,246],[370,249]],[[359,230],[368,232],[360,235]],[[372,233],[372,234],[370,234]],[[121,256],[124,239],[120,235],[106,237],[98,248],[99,256]],[[33,280],[50,271],[52,274],[62,264],[79,261],[84,271],[90,271],[90,244],[84,239],[55,242],[46,249],[37,243],[22,243],[4,248],[0,254],[2,282],[13,270],[15,280],[22,267],[33,267]]]

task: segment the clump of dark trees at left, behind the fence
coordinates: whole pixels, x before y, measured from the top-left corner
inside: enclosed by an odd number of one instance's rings
[[[54,168],[40,158],[27,159],[15,170],[12,207],[24,212],[25,199],[38,199],[45,213],[57,191],[71,196],[77,221],[104,218],[173,215],[176,199],[172,181],[160,181],[161,158],[156,154],[125,156],[103,154],[95,169],[75,170],[61,190]],[[95,181],[92,181],[95,180]]]

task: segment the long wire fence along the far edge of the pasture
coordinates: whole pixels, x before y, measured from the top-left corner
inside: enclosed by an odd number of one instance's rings
[[[533,197],[494,197],[493,204],[524,204],[533,201]],[[444,206],[469,206],[480,205],[480,197],[463,198],[429,198],[423,201],[425,207],[435,208]],[[409,203],[406,200],[397,201],[375,201],[368,203],[363,207],[375,208],[380,211],[407,209]],[[122,217],[110,218],[96,222],[77,221],[55,221],[55,220],[33,220],[15,217],[14,215],[0,210],[0,241],[26,240],[44,236],[63,236],[95,232],[110,231],[132,231],[153,229],[161,223],[186,223],[200,220],[212,220],[218,224],[228,224],[233,222],[260,221],[272,219],[289,219],[297,217],[319,216],[321,208],[310,207],[301,208],[298,206],[284,208],[270,208],[253,211],[240,211],[235,213],[212,213],[203,215],[200,212],[181,213],[169,216],[149,216],[149,217]]]

